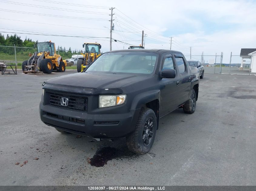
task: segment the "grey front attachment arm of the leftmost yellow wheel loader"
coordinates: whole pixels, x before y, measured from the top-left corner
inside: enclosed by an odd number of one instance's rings
[[[25,68],[24,68],[24,73],[35,73],[35,72],[38,72],[39,70],[39,64],[41,62],[41,60],[44,58],[44,54],[42,54],[41,56],[37,56],[38,55],[38,52],[35,52],[31,57],[30,59],[28,60],[28,63],[27,65],[25,65]]]

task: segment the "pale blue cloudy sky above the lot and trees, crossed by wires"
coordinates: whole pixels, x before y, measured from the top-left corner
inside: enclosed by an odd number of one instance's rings
[[[241,48],[256,48],[255,1],[159,0],[156,3],[152,0],[99,0],[97,4],[92,1],[78,0],[72,1],[72,3],[68,0],[59,0],[59,2],[58,4],[53,3],[53,1],[47,2],[49,8],[55,9],[52,10],[40,7],[42,4],[37,0],[24,0],[22,2],[3,0],[0,2],[1,31],[18,33],[23,30],[23,33],[30,31],[31,33],[109,37],[110,10],[108,8],[115,7],[113,38],[119,41],[113,42],[113,49],[127,49],[128,44],[141,44],[142,30],[147,34],[145,38],[146,48],[169,49],[169,37],[173,37],[172,49],[181,51],[185,55],[190,54],[190,46],[194,55],[202,52],[205,55],[215,55],[215,53],[220,55],[223,52],[224,62],[229,62],[231,51],[233,54],[239,55]],[[101,7],[93,7],[95,5]],[[7,10],[12,10],[12,12]],[[55,14],[68,18],[23,14],[17,11]],[[104,20],[93,21],[77,19],[78,17],[103,18]],[[55,23],[57,25],[54,25]],[[71,47],[73,50],[81,49],[84,42],[97,41],[102,44],[102,51],[109,50],[109,39],[18,35],[23,39],[28,36],[39,41],[52,40],[57,46]],[[235,60],[240,62],[239,57]]]

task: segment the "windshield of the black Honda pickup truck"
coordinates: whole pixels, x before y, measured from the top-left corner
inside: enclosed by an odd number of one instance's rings
[[[123,72],[151,74],[154,71],[157,53],[116,52],[102,54],[86,72]]]

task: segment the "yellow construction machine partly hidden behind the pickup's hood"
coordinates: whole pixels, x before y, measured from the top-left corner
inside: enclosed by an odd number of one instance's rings
[[[88,65],[101,55],[101,45],[98,43],[84,43],[83,48],[84,47],[85,54],[80,53],[84,57],[78,58],[77,61],[77,72],[83,72]]]

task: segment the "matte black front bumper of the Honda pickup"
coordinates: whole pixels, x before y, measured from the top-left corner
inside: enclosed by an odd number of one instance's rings
[[[140,113],[140,109],[137,109],[120,114],[88,114],[43,105],[42,101],[39,111],[41,120],[46,125],[92,138],[125,137],[134,131]]]

